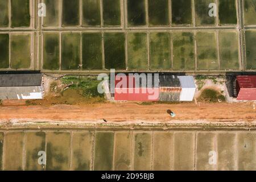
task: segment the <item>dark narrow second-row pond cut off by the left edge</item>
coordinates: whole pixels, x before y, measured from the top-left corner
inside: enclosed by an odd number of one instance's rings
[[[9,34],[0,34],[0,68],[9,68]]]

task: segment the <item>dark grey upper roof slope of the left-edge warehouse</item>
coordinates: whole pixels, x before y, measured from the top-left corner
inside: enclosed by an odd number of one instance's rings
[[[41,73],[0,75],[0,86],[40,86],[41,83]]]

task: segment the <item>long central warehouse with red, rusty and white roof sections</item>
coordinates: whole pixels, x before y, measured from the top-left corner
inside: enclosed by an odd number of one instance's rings
[[[125,78],[125,82],[123,79]],[[152,79],[147,85],[148,78]],[[159,75],[146,77],[146,84],[135,84],[133,76],[115,76],[115,101],[193,101],[196,85],[193,76]]]

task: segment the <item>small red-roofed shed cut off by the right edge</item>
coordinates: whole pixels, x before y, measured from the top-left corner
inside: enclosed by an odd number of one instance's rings
[[[237,76],[237,100],[256,100],[256,76]]]

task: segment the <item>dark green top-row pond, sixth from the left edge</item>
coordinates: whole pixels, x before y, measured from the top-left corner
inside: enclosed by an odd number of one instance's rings
[[[102,3],[104,26],[121,25],[120,0],[104,0]]]

